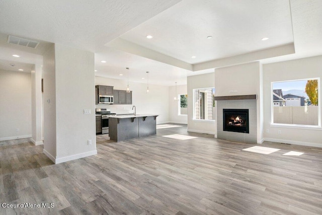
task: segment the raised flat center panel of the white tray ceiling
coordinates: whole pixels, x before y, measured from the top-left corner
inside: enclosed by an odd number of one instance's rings
[[[288,1],[185,0],[120,38],[194,64],[291,43],[293,33]]]

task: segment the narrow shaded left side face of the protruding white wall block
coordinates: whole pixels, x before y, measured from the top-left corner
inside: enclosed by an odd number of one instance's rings
[[[56,81],[55,45],[43,55],[43,152],[53,162],[56,159]]]

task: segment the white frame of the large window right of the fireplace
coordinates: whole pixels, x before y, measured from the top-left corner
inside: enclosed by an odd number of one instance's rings
[[[319,103],[321,102],[321,91],[320,91],[320,78],[305,78],[305,79],[295,79],[295,80],[286,80],[286,81],[276,81],[271,82],[271,89],[270,89],[270,95],[271,95],[271,123],[270,125],[272,127],[284,127],[284,128],[303,128],[303,129],[322,129],[321,127],[321,107],[320,104],[317,105],[317,125],[303,125],[303,124],[285,124],[285,123],[274,123],[274,102],[273,102],[273,84],[274,83],[282,83],[282,82],[295,82],[295,81],[308,81],[308,80],[317,80],[317,100]]]

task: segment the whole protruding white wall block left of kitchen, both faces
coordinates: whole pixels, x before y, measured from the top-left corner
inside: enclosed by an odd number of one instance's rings
[[[44,153],[56,164],[97,154],[94,73],[94,53],[55,44],[44,55]]]

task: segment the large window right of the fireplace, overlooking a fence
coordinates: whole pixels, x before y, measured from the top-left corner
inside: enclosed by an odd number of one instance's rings
[[[320,126],[319,79],[272,82],[272,122]]]

